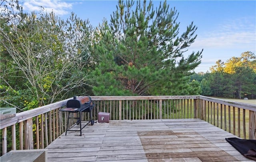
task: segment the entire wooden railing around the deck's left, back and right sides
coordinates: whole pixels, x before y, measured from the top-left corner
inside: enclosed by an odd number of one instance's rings
[[[58,138],[67,121],[66,113],[59,110],[68,100],[0,121],[1,155],[9,150],[45,148]],[[92,100],[94,120],[98,112],[110,113],[111,120],[199,118],[241,138],[256,139],[256,105],[252,104],[204,96],[92,96]],[[82,118],[88,120],[88,114]]]

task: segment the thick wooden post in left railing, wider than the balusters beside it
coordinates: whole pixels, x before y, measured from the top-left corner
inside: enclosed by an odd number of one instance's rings
[[[33,142],[33,121],[32,118],[26,120],[25,125],[25,149],[32,150],[34,149],[34,142]]]

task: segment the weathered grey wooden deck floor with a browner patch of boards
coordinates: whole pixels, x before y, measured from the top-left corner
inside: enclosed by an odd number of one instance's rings
[[[68,132],[48,147],[48,162],[235,162],[242,156],[225,138],[236,137],[199,119],[111,121]]]

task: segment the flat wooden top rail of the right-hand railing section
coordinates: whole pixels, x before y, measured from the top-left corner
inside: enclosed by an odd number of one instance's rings
[[[253,104],[226,101],[223,99],[216,99],[216,98],[206,97],[206,96],[199,96],[199,99],[203,99],[203,100],[211,101],[211,102],[215,102],[215,103],[220,103],[220,104],[224,104],[224,105],[228,105],[228,106],[232,106],[232,107],[238,107],[238,108],[242,108],[242,109],[246,109],[246,110],[256,111],[256,105],[253,105]]]

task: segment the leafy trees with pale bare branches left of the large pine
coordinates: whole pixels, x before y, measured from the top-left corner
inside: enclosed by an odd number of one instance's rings
[[[18,2],[2,4],[10,12],[0,14],[1,107],[28,110],[86,93],[89,22],[74,13],[64,21],[43,10],[23,14]]]

